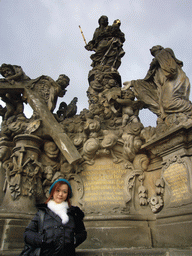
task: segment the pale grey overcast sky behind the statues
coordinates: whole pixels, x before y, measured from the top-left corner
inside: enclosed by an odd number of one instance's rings
[[[32,79],[60,74],[70,78],[67,104],[78,97],[78,113],[88,108],[86,90],[90,55],[86,41],[92,39],[101,15],[121,20],[125,33],[125,56],[119,73],[122,82],[144,78],[154,45],[170,47],[184,62],[183,70],[192,81],[191,0],[0,0],[0,61],[22,66]],[[190,96],[190,100],[191,100]],[[26,115],[31,112],[26,109]],[[155,126],[156,116],[141,111],[145,126]]]

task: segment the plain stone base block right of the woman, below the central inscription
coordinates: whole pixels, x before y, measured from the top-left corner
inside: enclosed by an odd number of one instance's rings
[[[81,249],[152,247],[148,221],[141,216],[86,217],[88,238]]]

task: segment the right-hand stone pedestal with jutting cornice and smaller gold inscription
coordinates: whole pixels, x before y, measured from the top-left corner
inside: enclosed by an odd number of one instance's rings
[[[192,246],[192,126],[182,125],[143,146],[161,159],[164,207],[151,223],[154,247]],[[154,160],[155,162],[155,160]]]

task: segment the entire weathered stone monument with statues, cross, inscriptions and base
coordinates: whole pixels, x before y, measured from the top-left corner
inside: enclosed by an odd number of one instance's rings
[[[110,26],[102,16],[99,25],[85,47],[95,51],[89,109],[78,115],[77,97],[55,109],[67,76],[30,79],[19,66],[0,67],[3,255],[21,249],[28,213],[45,202],[58,178],[70,181],[72,204],[86,214],[88,238],[79,255],[182,255],[151,247],[192,247],[192,104],[183,63],[171,49],[155,46],[146,77],[121,88],[120,21]],[[31,118],[24,102],[34,110]],[[156,127],[143,126],[143,108],[157,115]]]

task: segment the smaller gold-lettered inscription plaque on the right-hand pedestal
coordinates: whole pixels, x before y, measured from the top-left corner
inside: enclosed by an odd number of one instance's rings
[[[188,186],[188,171],[184,164],[171,164],[164,171],[164,179],[171,192],[170,203],[181,203],[191,198]]]

